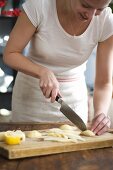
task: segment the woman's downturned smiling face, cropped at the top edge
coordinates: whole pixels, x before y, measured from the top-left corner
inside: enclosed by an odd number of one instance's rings
[[[100,15],[111,0],[70,0],[71,8],[81,21],[91,20],[94,15]]]

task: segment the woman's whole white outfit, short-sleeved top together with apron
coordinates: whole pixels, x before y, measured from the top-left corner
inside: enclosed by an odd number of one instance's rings
[[[87,30],[71,36],[60,25],[56,0],[27,0],[23,4],[31,23],[38,28],[32,37],[28,58],[52,70],[60,83],[64,101],[87,122],[87,88],[84,71],[86,61],[98,42],[113,35],[113,15],[107,7],[94,16]],[[18,73],[13,88],[13,121],[51,122],[67,120],[60,112],[60,104],[47,100],[39,87],[39,80]]]

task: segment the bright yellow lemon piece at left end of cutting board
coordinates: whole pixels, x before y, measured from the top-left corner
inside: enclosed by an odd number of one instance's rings
[[[21,143],[21,138],[19,136],[5,136],[5,143],[8,145],[17,145]]]

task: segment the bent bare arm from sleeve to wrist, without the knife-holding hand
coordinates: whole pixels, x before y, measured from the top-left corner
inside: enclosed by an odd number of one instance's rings
[[[15,70],[39,77],[39,67],[22,55],[36,31],[25,12],[21,12],[4,50],[4,62]]]

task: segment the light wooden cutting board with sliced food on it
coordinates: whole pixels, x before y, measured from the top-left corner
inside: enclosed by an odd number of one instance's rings
[[[78,141],[78,143],[37,141],[28,138],[20,145],[11,146],[0,142],[0,154],[8,159],[16,159],[113,146],[112,133],[106,133],[95,137],[84,136],[83,138],[85,138],[85,141]]]

